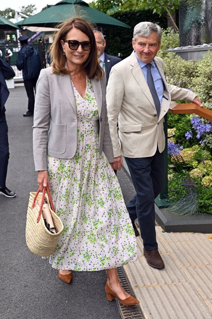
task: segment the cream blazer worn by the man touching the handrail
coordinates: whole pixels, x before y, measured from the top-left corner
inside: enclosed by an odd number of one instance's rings
[[[155,57],[155,64],[164,82],[159,118],[144,74],[133,51],[110,71],[107,85],[107,109],[114,156],[149,157],[165,148],[164,115],[171,100],[192,102],[195,93],[169,85],[164,76],[164,63]],[[117,128],[118,118],[118,128]]]

